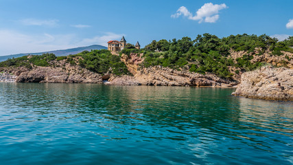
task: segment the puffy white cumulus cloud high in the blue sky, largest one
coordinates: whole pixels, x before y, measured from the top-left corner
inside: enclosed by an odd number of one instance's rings
[[[187,19],[199,21],[199,23],[202,23],[202,21],[206,23],[215,23],[220,18],[220,15],[218,14],[220,10],[223,10],[225,8],[228,8],[225,3],[222,3],[220,5],[213,4],[213,3],[204,3],[200,9],[196,12],[196,15],[192,14],[187,10],[185,6],[181,6],[175,14],[172,14],[172,18],[178,18],[181,15],[183,17],[187,17]]]

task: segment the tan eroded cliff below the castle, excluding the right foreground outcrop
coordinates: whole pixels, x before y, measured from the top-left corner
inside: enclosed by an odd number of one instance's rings
[[[233,87],[238,84],[237,81],[225,80],[213,74],[202,75],[161,66],[141,68],[139,64],[143,62],[143,58],[138,54],[122,55],[121,60],[124,61],[133,77],[110,78],[112,85]]]

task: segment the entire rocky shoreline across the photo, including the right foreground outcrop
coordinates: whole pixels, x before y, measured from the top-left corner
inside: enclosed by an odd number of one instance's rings
[[[143,58],[139,54],[123,54],[132,76],[97,74],[80,65],[67,61],[53,61],[50,67],[2,67],[0,82],[16,83],[104,83],[106,85],[154,85],[154,86],[196,86],[237,87],[233,96],[265,100],[293,100],[293,69],[271,66],[261,67],[253,72],[237,74],[233,79],[224,79],[215,74],[198,74],[186,69],[170,69],[154,66],[141,67]],[[291,65],[290,65],[291,66]]]

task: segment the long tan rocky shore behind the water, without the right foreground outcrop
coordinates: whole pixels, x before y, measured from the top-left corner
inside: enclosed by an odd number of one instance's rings
[[[227,80],[214,74],[198,74],[188,70],[178,71],[168,67],[154,66],[143,68],[139,64],[143,58],[138,54],[122,55],[123,61],[132,76],[97,74],[80,65],[67,61],[52,61],[50,67],[4,67],[0,72],[14,75],[3,81],[16,83],[103,83],[107,85],[154,85],[154,86],[197,86],[197,87],[235,87],[238,80]]]

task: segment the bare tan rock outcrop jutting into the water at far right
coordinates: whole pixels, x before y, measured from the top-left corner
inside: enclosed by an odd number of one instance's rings
[[[233,96],[266,100],[293,100],[293,69],[261,67],[242,74]]]

